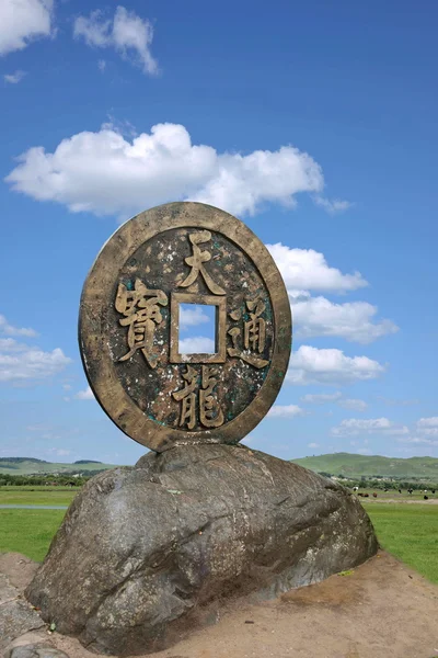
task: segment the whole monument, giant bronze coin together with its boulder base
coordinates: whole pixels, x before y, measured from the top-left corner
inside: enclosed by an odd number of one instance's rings
[[[180,349],[187,305],[214,309],[208,353]],[[85,281],[79,341],[97,401],[151,452],[83,487],[28,586],[58,632],[101,654],[152,653],[243,598],[376,553],[345,488],[239,444],[274,404],[291,345],[284,282],[242,222],[187,202],[124,224]]]

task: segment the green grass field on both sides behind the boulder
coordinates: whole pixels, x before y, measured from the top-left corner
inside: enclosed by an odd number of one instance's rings
[[[69,504],[77,492],[47,491],[44,487],[34,491],[8,488],[0,490],[0,504]],[[403,503],[407,495],[400,499],[400,503],[362,502],[382,547],[438,583],[438,504]],[[43,560],[64,514],[64,510],[0,509],[0,552],[15,551]]]

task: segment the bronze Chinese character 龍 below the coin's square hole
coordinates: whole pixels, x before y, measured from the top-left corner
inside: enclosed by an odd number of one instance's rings
[[[180,427],[187,426],[193,430],[196,426],[197,405],[195,389],[198,384],[198,373],[191,365],[186,366],[186,372],[183,377],[186,382],[184,388],[172,394],[173,398],[182,402],[180,415]],[[214,388],[218,383],[216,368],[203,365],[201,371],[201,388],[199,389],[199,422],[205,428],[218,428],[223,424],[223,412],[215,398]]]

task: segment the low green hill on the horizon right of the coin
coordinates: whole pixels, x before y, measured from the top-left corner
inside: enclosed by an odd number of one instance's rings
[[[379,455],[357,455],[350,453],[334,453],[291,460],[295,464],[304,466],[316,473],[330,473],[350,478],[365,477],[396,477],[420,478],[438,483],[438,458],[436,457],[381,457]]]

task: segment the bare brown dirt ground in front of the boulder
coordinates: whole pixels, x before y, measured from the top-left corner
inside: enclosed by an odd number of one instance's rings
[[[7,570],[11,561],[3,556],[0,567]],[[49,642],[70,658],[95,658],[72,638],[55,633]],[[438,657],[438,587],[382,552],[353,571],[292,590],[274,601],[233,605],[216,625],[165,651],[146,656]]]

